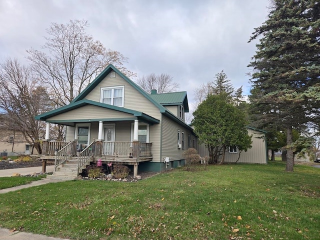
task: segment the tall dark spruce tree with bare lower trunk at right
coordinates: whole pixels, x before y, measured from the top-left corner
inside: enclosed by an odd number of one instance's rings
[[[286,171],[293,171],[292,128],[319,122],[319,16],[319,0],[273,0],[267,20],[250,38],[261,36],[249,64],[253,112],[259,126],[286,129]]]

